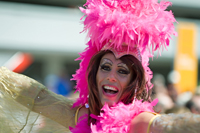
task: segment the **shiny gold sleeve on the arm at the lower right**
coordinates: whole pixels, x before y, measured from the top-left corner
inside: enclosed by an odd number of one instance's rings
[[[155,118],[150,133],[200,133],[200,115],[164,114]]]

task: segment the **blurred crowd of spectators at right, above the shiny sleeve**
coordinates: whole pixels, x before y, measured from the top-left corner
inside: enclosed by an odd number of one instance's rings
[[[184,92],[178,94],[172,83],[165,83],[165,78],[161,74],[155,74],[152,80],[152,99],[158,98],[159,102],[155,106],[155,111],[161,114],[192,112],[200,114],[200,87],[196,92]]]

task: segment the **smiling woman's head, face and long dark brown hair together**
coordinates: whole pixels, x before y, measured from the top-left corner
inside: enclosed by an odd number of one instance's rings
[[[149,99],[140,61],[130,53],[117,58],[112,51],[102,50],[92,57],[88,65],[88,101],[93,107],[89,108],[89,114],[99,115],[105,103],[109,106],[119,101],[130,104],[136,96],[144,101]]]

